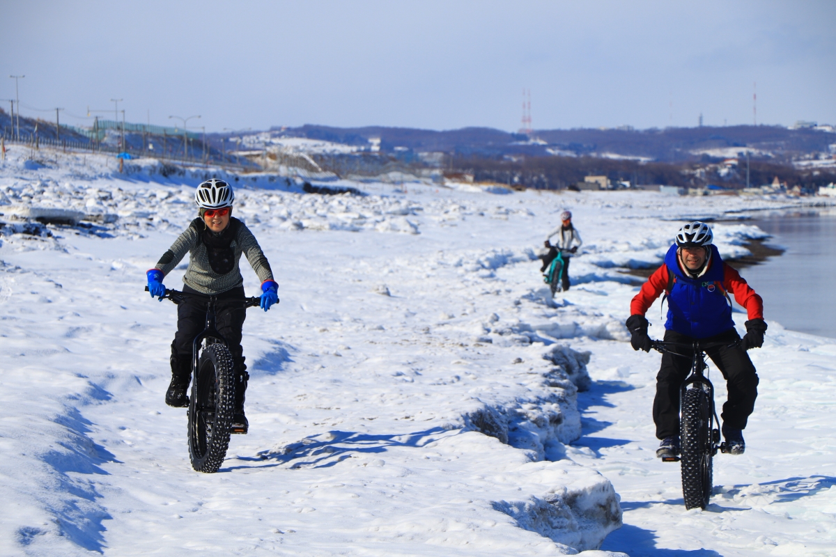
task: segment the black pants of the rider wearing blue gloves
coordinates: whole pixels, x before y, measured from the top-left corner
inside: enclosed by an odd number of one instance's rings
[[[186,296],[186,301],[177,306],[177,332],[174,342],[171,342],[171,356],[181,362],[181,369],[191,369],[191,343],[206,328],[206,301],[209,296],[189,286],[183,286],[183,291],[194,296]],[[239,286],[218,294],[215,305],[215,327],[227,341],[229,352],[232,352],[232,362],[238,372],[247,369],[241,347],[247,309],[237,301],[243,297],[244,287]]]

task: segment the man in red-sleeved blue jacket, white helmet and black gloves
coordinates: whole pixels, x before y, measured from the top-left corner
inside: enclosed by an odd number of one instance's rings
[[[723,374],[728,387],[728,401],[723,404],[721,414],[726,447],[732,454],[742,454],[746,449],[742,430],[755,408],[758,382],[746,350],[762,347],[767,324],[763,321],[761,296],[722,261],[712,241],[711,228],[705,223],[691,222],[682,226],[676,234],[675,245],[670,246],[665,256],[665,265],[650,276],[633,298],[627,328],[632,333],[633,349],[650,352],[645,312],[665,291],[668,302],[666,342],[728,342],[729,346],[710,348],[706,353]],[[749,317],[746,336],[737,344],[740,336],[732,322],[732,301],[727,292],[732,292]],[[656,376],[653,421],[656,437],[662,440],[656,450],[659,458],[675,457],[680,448],[680,387],[691,371],[692,351],[681,347],[676,352],[687,357],[665,352]]]

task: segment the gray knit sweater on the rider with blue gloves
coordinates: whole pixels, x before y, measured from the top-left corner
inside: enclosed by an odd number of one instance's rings
[[[186,252],[189,253],[189,266],[183,283],[209,296],[242,286],[244,279],[238,266],[241,254],[247,256],[260,281],[273,280],[273,271],[255,236],[234,217],[220,234],[206,230],[202,219],[192,220],[154,268],[168,275]]]

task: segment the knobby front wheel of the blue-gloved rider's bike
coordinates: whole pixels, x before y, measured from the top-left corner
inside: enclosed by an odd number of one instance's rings
[[[232,354],[222,344],[201,352],[189,402],[189,458],[197,472],[213,473],[227,456],[235,385]]]

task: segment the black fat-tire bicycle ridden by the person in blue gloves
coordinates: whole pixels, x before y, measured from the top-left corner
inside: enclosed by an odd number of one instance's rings
[[[145,290],[148,287],[145,286]],[[191,397],[188,409],[188,441],[191,468],[196,472],[215,473],[227,456],[235,407],[235,377],[232,353],[215,326],[217,296],[197,296],[169,290],[161,296],[175,304],[186,296],[206,301],[206,328],[191,342]],[[224,300],[224,304],[242,303],[244,308],[259,306],[261,298]],[[278,301],[277,301],[278,303]]]

